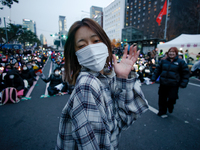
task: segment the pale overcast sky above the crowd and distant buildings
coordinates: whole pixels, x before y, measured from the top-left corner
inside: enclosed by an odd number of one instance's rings
[[[36,22],[37,36],[43,34],[47,39],[47,44],[53,44],[53,37],[50,34],[58,33],[59,15],[66,16],[67,31],[70,26],[77,20],[90,17],[91,6],[106,7],[113,0],[19,0],[14,3],[12,8],[4,6],[0,10],[1,25],[4,27],[6,22],[22,24],[22,19],[30,19]],[[1,5],[0,5],[1,6]],[[85,11],[88,13],[84,13]]]

